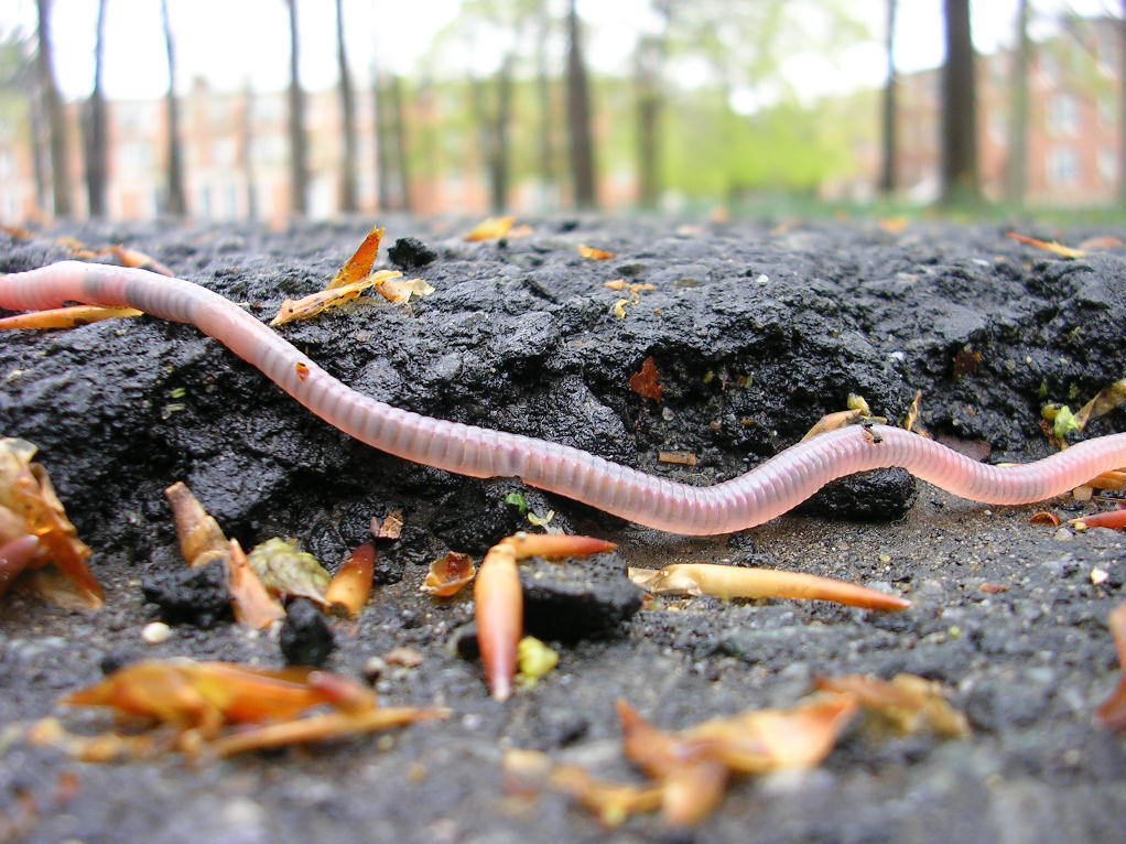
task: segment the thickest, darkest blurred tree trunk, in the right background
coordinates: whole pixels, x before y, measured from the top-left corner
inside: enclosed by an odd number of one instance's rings
[[[944,205],[980,203],[977,97],[969,0],[944,0],[946,61],[942,64],[941,180]]]

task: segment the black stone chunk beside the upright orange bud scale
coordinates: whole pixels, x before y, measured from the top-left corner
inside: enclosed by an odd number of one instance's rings
[[[575,641],[620,628],[640,608],[642,591],[616,554],[520,566],[524,626],[533,636]]]

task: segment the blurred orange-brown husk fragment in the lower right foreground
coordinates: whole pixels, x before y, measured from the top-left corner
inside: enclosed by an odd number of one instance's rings
[[[942,686],[914,674],[897,674],[891,682],[869,675],[816,677],[822,691],[852,695],[886,720],[897,733],[911,735],[924,726],[947,738],[965,738],[969,722],[942,697]]]

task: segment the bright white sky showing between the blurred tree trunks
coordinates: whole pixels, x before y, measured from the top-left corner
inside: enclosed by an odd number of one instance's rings
[[[682,0],[690,2],[691,0]],[[753,2],[753,0],[732,0]],[[878,86],[885,60],[885,0],[842,0],[869,21],[874,41],[851,50],[843,66],[816,56],[795,56],[784,72],[810,93]],[[168,0],[177,50],[178,87],[202,77],[214,88],[280,90],[288,81],[288,12],[285,0]],[[449,50],[432,41],[457,15],[458,0],[343,0],[349,65],[355,79],[369,78],[378,51],[385,66],[413,73],[425,62],[449,61]],[[937,66],[942,59],[941,0],[900,0],[896,62],[902,71]],[[1017,0],[975,0],[974,41],[982,52],[1011,42]],[[1034,37],[1071,10],[1117,14],[1119,0],[1031,0],[1039,18]],[[96,0],[54,0],[55,72],[68,98],[84,97],[92,84]],[[298,0],[302,83],[331,87],[337,78],[333,0]],[[646,19],[646,0],[580,0],[587,26],[587,57],[596,70],[627,72],[633,36]],[[33,33],[34,0],[0,0],[0,34]],[[106,95],[115,99],[157,98],[168,84],[158,0],[108,0]],[[263,46],[268,45],[268,46]],[[481,47],[479,47],[480,50]],[[484,45],[479,60],[499,51]],[[437,54],[436,54],[437,53]],[[488,70],[488,68],[482,68]]]

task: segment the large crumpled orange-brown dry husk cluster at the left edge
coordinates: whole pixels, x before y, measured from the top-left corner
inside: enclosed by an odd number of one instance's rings
[[[27,440],[0,439],[0,547],[7,554],[0,573],[10,575],[0,576],[0,595],[20,571],[53,564],[81,605],[100,609],[104,593],[87,566],[90,548],[66,518],[47,470],[32,463],[37,450]],[[26,536],[35,537],[34,549]]]

